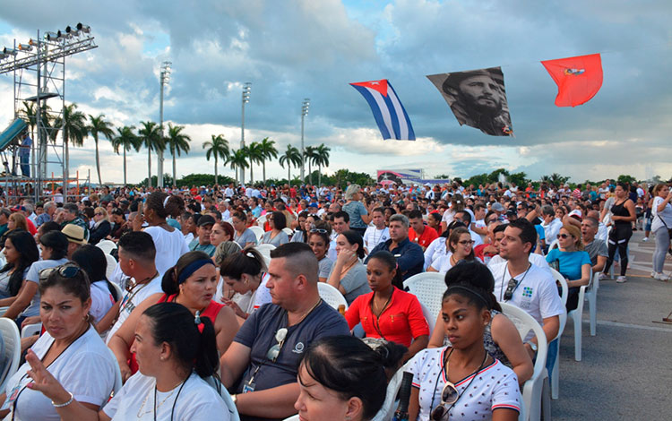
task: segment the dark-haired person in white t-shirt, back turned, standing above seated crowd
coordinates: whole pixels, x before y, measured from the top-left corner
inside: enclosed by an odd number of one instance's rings
[[[185,202],[177,196],[153,192],[147,197],[142,213],[134,219],[134,231],[142,229],[142,222],[149,227],[143,231],[151,236],[156,247],[156,265],[159,273],[171,268],[182,254],[189,251],[182,232],[168,225],[168,216],[177,217],[185,209]]]

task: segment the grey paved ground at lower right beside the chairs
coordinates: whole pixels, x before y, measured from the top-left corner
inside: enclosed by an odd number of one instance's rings
[[[636,231],[630,242],[628,281],[600,283],[597,336],[590,336],[584,306],[581,362],[574,361],[573,323],[567,322],[554,420],[672,419],[672,324],[656,323],[672,312],[672,281],[650,278],[654,245],[642,237]],[[665,272],[672,273],[672,256]]]

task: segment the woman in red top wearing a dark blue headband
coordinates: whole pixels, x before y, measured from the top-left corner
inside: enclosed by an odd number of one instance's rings
[[[217,349],[223,354],[236,336],[238,322],[236,314],[230,307],[213,301],[218,281],[215,265],[206,253],[185,253],[177,260],[176,265],[163,275],[161,288],[164,295],[159,299],[159,303],[181,304],[194,314],[194,318],[208,317],[214,325]],[[156,304],[156,301],[150,303],[147,301],[151,300],[145,300],[135,307],[133,313],[116,331],[114,343],[112,341],[109,343],[109,348],[114,351],[125,378],[127,374],[134,374],[137,371],[131,345],[138,319],[147,308]],[[122,365],[122,362],[125,364]]]

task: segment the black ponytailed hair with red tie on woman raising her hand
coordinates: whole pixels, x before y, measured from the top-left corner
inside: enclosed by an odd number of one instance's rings
[[[151,320],[154,343],[167,343],[187,373],[201,378],[215,374],[220,364],[215,329],[209,317],[194,318],[184,305],[159,303],[144,311]]]

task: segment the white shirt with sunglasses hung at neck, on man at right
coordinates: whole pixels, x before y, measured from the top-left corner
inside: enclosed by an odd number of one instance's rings
[[[508,265],[508,262],[504,262],[489,267],[495,279],[497,301],[504,302],[504,293],[511,279]],[[519,281],[518,286],[513,290],[513,296],[508,303],[530,314],[540,325],[544,325],[544,319],[565,312],[556,281],[548,271],[532,264],[527,273],[522,272],[516,279]],[[533,335],[530,333],[528,336]]]

